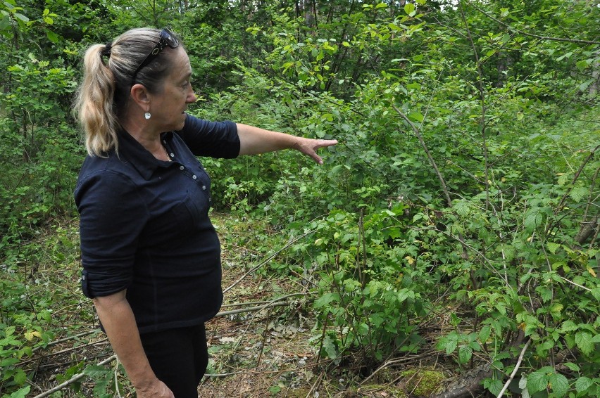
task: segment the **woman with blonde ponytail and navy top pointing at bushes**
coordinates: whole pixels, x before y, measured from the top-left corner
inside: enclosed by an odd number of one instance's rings
[[[196,155],[235,158],[337,143],[187,115],[185,49],[167,29],[135,29],[85,54],[76,111],[89,155],[80,212],[82,290],[137,397],[197,397],[204,323],[219,310],[220,244],[210,179]]]

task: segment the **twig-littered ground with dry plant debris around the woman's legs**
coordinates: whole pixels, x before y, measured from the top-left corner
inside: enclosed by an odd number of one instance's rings
[[[219,316],[206,326],[211,360],[199,397],[428,397],[439,390],[448,373],[435,349],[388,359],[378,368],[352,358],[335,364],[319,357],[311,345],[315,321],[309,284],[268,272],[240,280],[249,269],[244,262],[256,262],[258,254],[227,233],[251,229],[232,228],[240,222],[225,214],[213,218],[223,240],[223,287],[232,288]],[[77,238],[76,233],[69,236]],[[79,264],[73,261],[69,267]],[[51,267],[37,271],[46,272],[53,284],[61,280],[63,285],[56,288],[73,295],[63,321],[79,326],[65,327],[65,335],[23,359],[32,386],[27,397],[98,397],[100,391],[109,394],[105,397],[134,397],[122,368],[111,361],[113,351],[92,316],[92,303],[77,288],[78,270],[58,279],[49,275],[58,272]],[[443,316],[437,321],[446,322]],[[430,325],[427,340],[433,341],[440,328]]]

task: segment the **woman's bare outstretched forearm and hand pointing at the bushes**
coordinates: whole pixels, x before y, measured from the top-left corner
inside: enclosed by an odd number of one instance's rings
[[[256,155],[274,150],[296,149],[313,158],[319,165],[323,164],[323,159],[317,155],[318,148],[337,143],[337,140],[306,139],[239,123],[237,123],[237,134],[240,141],[239,155]]]

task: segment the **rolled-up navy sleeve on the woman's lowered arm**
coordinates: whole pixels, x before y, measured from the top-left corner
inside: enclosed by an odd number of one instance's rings
[[[87,297],[111,295],[132,281],[137,240],[148,212],[127,176],[95,172],[75,189],[80,212],[82,290]]]

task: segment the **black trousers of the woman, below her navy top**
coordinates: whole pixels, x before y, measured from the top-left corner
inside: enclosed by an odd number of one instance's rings
[[[140,337],[156,377],[173,391],[175,398],[198,398],[198,385],[208,366],[204,323]]]

